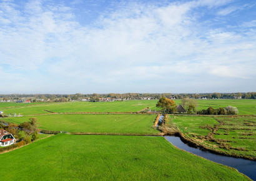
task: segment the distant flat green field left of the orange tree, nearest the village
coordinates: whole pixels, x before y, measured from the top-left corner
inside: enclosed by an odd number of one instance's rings
[[[31,105],[1,108],[4,114],[49,114],[51,112],[137,112],[143,109],[157,109],[157,100],[127,100],[115,102],[61,102],[47,105]],[[47,112],[49,110],[51,112]],[[157,109],[159,110],[159,109]]]

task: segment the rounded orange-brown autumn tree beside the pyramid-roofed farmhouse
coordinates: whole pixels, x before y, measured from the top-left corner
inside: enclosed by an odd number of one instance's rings
[[[174,100],[170,100],[166,97],[160,97],[156,107],[162,108],[163,114],[173,114],[177,110]]]

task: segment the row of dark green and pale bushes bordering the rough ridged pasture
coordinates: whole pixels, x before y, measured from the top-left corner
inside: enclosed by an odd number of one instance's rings
[[[237,115],[239,114],[239,110],[237,107],[234,106],[227,106],[225,108],[219,107],[214,109],[212,107],[208,107],[208,109],[202,109],[197,111],[197,114],[204,114],[204,115]]]

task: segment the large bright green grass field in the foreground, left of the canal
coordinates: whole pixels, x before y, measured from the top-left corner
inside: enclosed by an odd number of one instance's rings
[[[1,180],[249,180],[164,137],[59,134],[0,160]]]

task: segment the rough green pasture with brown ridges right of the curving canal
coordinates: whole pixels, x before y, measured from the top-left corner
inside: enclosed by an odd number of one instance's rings
[[[198,144],[256,159],[255,116],[170,116],[170,119]]]

